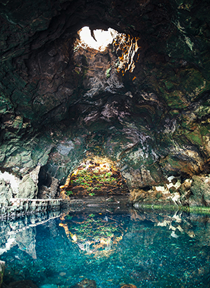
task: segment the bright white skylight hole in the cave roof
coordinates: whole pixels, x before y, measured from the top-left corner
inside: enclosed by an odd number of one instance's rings
[[[109,44],[112,44],[113,39],[116,38],[118,34],[120,33],[111,28],[107,31],[99,29],[90,30],[89,27],[85,26],[78,31],[80,40],[76,41],[76,46],[104,51]]]

